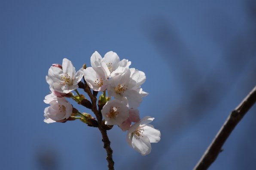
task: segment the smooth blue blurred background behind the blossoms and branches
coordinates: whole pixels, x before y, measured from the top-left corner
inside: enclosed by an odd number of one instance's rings
[[[51,64],[67,58],[78,70],[95,50],[113,50],[146,73],[140,116],[155,117],[162,132],[143,157],[128,146],[126,132],[110,130],[116,170],[191,170],[256,85],[256,3],[0,0],[0,169],[107,169],[97,128],[43,122]],[[255,112],[209,170],[255,169]]]

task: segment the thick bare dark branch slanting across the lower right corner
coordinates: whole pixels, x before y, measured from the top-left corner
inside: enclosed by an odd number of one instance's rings
[[[245,97],[245,99],[229,114],[226,122],[223,124],[216,137],[213,139],[210,146],[204,152],[204,155],[195,166],[194,170],[207,170],[208,167],[216,160],[219,152],[222,151],[222,146],[238,124],[238,122],[244,117],[247,111],[256,102],[256,86]]]

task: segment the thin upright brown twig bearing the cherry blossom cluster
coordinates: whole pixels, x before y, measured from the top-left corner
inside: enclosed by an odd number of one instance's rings
[[[98,120],[98,129],[101,132],[101,136],[102,136],[102,141],[104,143],[104,148],[107,151],[107,162],[108,162],[108,169],[109,170],[114,170],[114,161],[113,161],[113,157],[112,157],[112,153],[113,150],[110,147],[110,140],[107,136],[107,129],[104,128],[105,124],[102,121],[102,114],[101,114],[101,107],[99,107],[99,110],[97,109],[97,92],[93,92],[91,93],[91,89],[89,88],[89,86],[86,84],[85,82],[85,87],[84,87],[84,91],[88,94],[88,96],[91,99],[91,103],[92,103],[92,107],[91,107],[91,111],[93,111],[93,113],[95,114],[97,120]]]

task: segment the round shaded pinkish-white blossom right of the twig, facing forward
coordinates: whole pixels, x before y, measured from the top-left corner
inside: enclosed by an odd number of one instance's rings
[[[119,100],[110,100],[103,106],[101,113],[105,119],[106,125],[120,125],[129,117],[129,108],[127,103]]]

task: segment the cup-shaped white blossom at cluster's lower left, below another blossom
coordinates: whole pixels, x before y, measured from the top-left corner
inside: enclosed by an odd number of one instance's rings
[[[51,106],[47,107],[44,113],[46,120],[49,118],[54,121],[63,120],[72,114],[73,106],[64,97],[58,97],[49,104]]]

